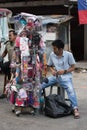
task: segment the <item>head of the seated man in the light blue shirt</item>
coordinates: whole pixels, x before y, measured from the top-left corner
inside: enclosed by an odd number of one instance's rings
[[[52,46],[53,46],[53,51],[57,56],[61,56],[63,53],[63,49],[64,49],[64,43],[57,39],[55,41],[52,42]]]

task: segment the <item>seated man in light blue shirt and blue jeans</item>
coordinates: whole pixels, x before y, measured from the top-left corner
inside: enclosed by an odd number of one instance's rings
[[[48,66],[53,76],[48,77],[48,83],[43,82],[41,91],[49,86],[59,83],[71,101],[74,118],[79,118],[78,104],[74,86],[72,83],[72,71],[75,69],[75,60],[71,52],[64,51],[64,43],[61,40],[55,40],[52,43],[53,52],[50,54]]]

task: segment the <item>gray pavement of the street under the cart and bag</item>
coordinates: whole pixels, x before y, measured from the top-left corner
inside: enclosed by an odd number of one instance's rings
[[[78,97],[80,119],[74,119],[72,115],[53,119],[41,114],[35,116],[21,114],[20,117],[17,117],[11,112],[11,105],[7,99],[0,99],[0,130],[86,130],[87,72],[73,72],[73,82]],[[0,86],[0,92],[2,92],[3,75],[0,75]],[[47,89],[48,91],[49,88]]]

